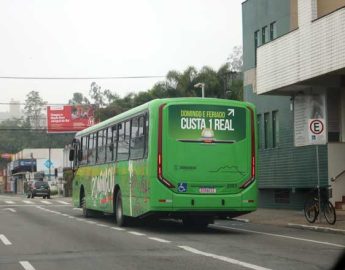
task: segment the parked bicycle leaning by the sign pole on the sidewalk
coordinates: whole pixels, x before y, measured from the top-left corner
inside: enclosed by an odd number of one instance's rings
[[[304,216],[309,223],[314,223],[320,214],[320,207],[326,221],[333,225],[336,220],[335,208],[328,200],[328,189],[320,188],[320,203],[318,189],[312,191],[312,195],[309,196],[304,204]]]

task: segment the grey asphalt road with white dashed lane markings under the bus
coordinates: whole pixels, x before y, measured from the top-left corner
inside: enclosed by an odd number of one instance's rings
[[[118,228],[66,198],[0,195],[1,270],[330,269],[343,235],[235,221],[204,231],[164,220]]]

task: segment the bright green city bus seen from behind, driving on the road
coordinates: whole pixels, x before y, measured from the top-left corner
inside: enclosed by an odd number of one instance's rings
[[[76,134],[73,205],[89,216],[207,226],[257,208],[256,113],[247,102],[156,99]]]

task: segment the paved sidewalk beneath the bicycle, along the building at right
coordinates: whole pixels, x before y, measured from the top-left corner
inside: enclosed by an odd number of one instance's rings
[[[300,229],[340,233],[345,235],[345,211],[337,211],[337,221],[329,225],[322,216],[321,222],[308,223],[302,210],[266,209],[259,208],[257,211],[240,216],[236,220],[256,224],[287,226]]]

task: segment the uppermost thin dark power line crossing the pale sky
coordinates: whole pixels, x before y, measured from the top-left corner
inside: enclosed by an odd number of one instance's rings
[[[26,76],[0,76],[8,80],[121,80],[121,79],[155,79],[165,78],[162,75],[144,76],[106,76],[106,77],[26,77]]]

